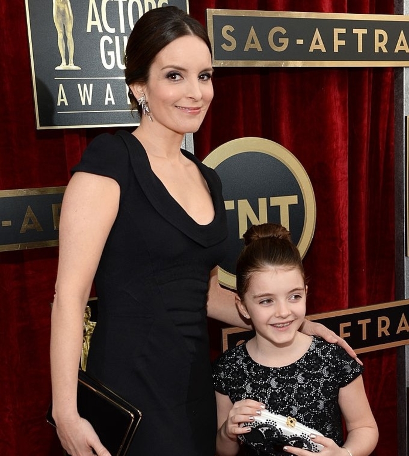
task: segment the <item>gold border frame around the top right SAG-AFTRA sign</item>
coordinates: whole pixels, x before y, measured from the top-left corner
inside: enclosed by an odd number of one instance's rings
[[[409,22],[409,16],[403,14],[352,14],[352,13],[316,13],[294,11],[259,11],[229,10],[218,8],[206,9],[207,28],[212,45],[214,67],[408,67],[405,61],[338,61],[338,60],[215,60],[213,16],[245,17],[294,17],[300,19],[340,19],[340,20],[384,20],[389,22]]]

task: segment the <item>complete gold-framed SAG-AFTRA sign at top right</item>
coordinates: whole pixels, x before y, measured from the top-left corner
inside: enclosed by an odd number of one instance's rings
[[[406,67],[403,15],[207,10],[214,66]]]

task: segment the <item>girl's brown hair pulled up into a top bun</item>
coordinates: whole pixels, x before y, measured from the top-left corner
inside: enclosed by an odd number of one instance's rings
[[[299,269],[304,282],[301,255],[291,241],[290,232],[282,225],[253,225],[244,234],[244,248],[236,263],[237,294],[243,299],[253,273],[269,267]]]

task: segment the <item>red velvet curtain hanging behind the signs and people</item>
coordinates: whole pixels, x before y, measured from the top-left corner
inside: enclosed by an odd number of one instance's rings
[[[206,8],[393,14],[393,0],[194,0]],[[36,131],[23,0],[0,3],[0,190],[65,185],[101,129]],[[316,198],[305,258],[309,313],[394,300],[393,73],[382,68],[217,68],[215,99],[194,135],[200,158],[242,136],[298,157]],[[1,218],[1,213],[0,213]],[[0,454],[61,454],[44,420],[57,248],[0,252]],[[211,322],[212,355],[220,325]],[[376,456],[397,454],[395,350],[360,356],[378,422]],[[376,381],[374,379],[376,378]]]

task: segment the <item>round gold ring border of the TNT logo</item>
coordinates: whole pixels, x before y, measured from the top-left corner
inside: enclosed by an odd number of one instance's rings
[[[316,205],[314,190],[306,170],[296,156],[281,144],[265,138],[245,137],[233,139],[214,149],[203,163],[211,168],[216,168],[224,160],[244,152],[254,151],[267,154],[283,163],[296,178],[304,198],[305,220],[301,233],[298,249],[301,257],[304,257],[311,244],[315,230]],[[219,267],[218,279],[220,284],[236,288],[236,276]]]

